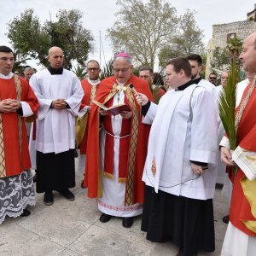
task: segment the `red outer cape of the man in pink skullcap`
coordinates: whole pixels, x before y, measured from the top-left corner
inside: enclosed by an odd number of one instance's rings
[[[106,96],[113,88],[113,84],[117,84],[114,77],[104,79],[99,90],[96,94],[96,101],[104,102]],[[142,92],[150,101],[153,101],[152,94],[148,88],[148,83],[142,79],[138,79],[136,76],[131,75],[131,78],[127,81],[126,84],[133,84],[135,89],[138,92]],[[140,109],[140,106],[137,105],[137,108]],[[104,118],[105,119],[105,118]],[[85,185],[88,186],[88,196],[91,198],[98,197],[98,173],[100,170],[100,153],[99,153],[99,112],[98,107],[95,104],[92,104],[90,112],[90,121],[89,121],[89,134],[88,143],[87,143],[87,157],[85,164]],[[124,125],[124,122],[126,123]],[[122,125],[122,132],[129,130],[131,133],[131,125],[129,125],[131,120],[124,120]],[[107,123],[107,122],[106,122]],[[123,130],[124,129],[124,130]],[[135,176],[134,176],[134,203],[140,202],[143,203],[143,167],[146,159],[147,148],[148,148],[148,135],[150,131],[150,125],[142,124],[141,117],[139,119],[138,127],[138,141],[137,141],[137,154],[135,162]],[[120,152],[123,151],[120,148]],[[129,149],[129,148],[128,148]],[[127,151],[127,149],[125,149]],[[120,156],[123,157],[123,156]],[[122,163],[120,163],[122,165]]]

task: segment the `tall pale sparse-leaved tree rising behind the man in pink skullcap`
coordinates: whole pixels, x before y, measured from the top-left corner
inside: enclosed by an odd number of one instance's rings
[[[165,0],[118,0],[117,4],[117,21],[108,29],[113,50],[126,50],[137,64],[153,67],[158,51],[176,32],[176,9]]]

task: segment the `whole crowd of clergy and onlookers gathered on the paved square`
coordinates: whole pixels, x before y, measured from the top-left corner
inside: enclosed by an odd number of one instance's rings
[[[63,68],[59,47],[49,49],[49,67],[37,73],[26,67],[21,78],[12,72],[12,49],[0,46],[0,224],[6,216],[30,215],[26,207],[36,202],[31,163],[46,206],[54,203],[53,191],[75,200],[70,189],[79,148],[81,186],[97,199],[100,221],[118,217],[130,228],[142,215],[146,238],[172,241],[177,255],[215,250],[212,198],[218,169],[229,172],[221,255],[254,255],[256,32],[244,41],[240,60],[247,79],[236,85],[233,151],[218,117],[219,88],[229,72],[219,86],[215,73],[202,79],[200,55],[168,61],[164,82],[151,67],[135,76],[131,55],[121,52],[113,76],[101,81],[98,61],[90,60],[80,81]]]

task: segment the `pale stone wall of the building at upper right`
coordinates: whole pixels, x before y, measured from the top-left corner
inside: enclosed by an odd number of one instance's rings
[[[229,34],[236,33],[236,38],[244,40],[252,32],[256,32],[256,22],[253,20],[212,25],[212,42],[215,47],[224,49]]]

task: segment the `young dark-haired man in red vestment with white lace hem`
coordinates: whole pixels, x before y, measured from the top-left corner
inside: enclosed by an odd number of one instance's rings
[[[12,49],[0,46],[0,224],[28,216],[35,205],[24,117],[37,114],[38,99],[26,79],[12,73]]]

